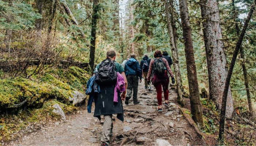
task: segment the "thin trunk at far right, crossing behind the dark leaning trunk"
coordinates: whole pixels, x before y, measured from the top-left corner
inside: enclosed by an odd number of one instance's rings
[[[237,22],[237,10],[235,8],[235,3],[234,0],[232,0],[232,6],[233,6],[233,11],[234,11],[234,21],[235,21],[235,28],[236,28],[236,33],[237,36],[240,35],[240,29],[238,26],[238,22]],[[244,56],[244,50],[242,47],[240,47],[240,56],[243,60],[245,60],[245,56]],[[247,69],[245,64],[241,64],[242,69],[243,69],[243,74],[244,74],[244,84],[245,84],[245,88],[246,88],[246,94],[247,94],[247,99],[248,99],[248,106],[249,106],[249,111],[251,112],[251,114],[254,114],[253,108],[252,108],[252,100],[251,100],[251,95],[250,95],[250,89],[249,89],[249,81],[248,81],[248,77],[247,77]]]

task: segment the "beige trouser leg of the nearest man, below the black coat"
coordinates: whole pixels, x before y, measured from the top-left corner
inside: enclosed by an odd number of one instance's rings
[[[111,125],[112,125],[112,115],[104,115],[101,143],[106,143],[107,145],[109,145]]]

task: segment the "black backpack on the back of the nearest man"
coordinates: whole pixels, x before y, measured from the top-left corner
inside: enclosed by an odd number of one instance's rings
[[[117,73],[115,71],[116,65],[107,58],[99,65],[98,72],[95,73],[95,81],[98,84],[115,84],[117,80]]]

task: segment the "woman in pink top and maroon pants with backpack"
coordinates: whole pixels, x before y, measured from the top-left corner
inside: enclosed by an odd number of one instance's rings
[[[152,84],[157,90],[157,101],[158,101],[158,112],[162,112],[162,87],[163,87],[163,96],[165,97],[164,105],[169,107],[168,105],[168,84],[169,84],[169,76],[167,72],[172,77],[172,83],[174,84],[174,76],[172,70],[165,58],[162,57],[162,53],[160,50],[156,50],[154,53],[154,59],[151,59],[148,74],[147,74],[147,83],[150,84],[150,78],[152,75]]]

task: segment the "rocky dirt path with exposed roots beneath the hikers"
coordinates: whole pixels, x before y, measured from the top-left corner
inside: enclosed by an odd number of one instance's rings
[[[170,107],[158,113],[155,88],[152,87],[151,92],[143,88],[142,82],[138,92],[140,104],[131,102],[124,105],[124,122],[113,117],[111,145],[154,145],[158,138],[172,145],[203,145],[195,130],[179,114],[174,103],[177,97],[175,91],[172,90],[169,95]],[[93,117],[93,113],[88,114],[83,108],[79,114],[68,117],[67,122],[52,123],[37,132],[24,135],[12,145],[100,145],[102,124]]]

